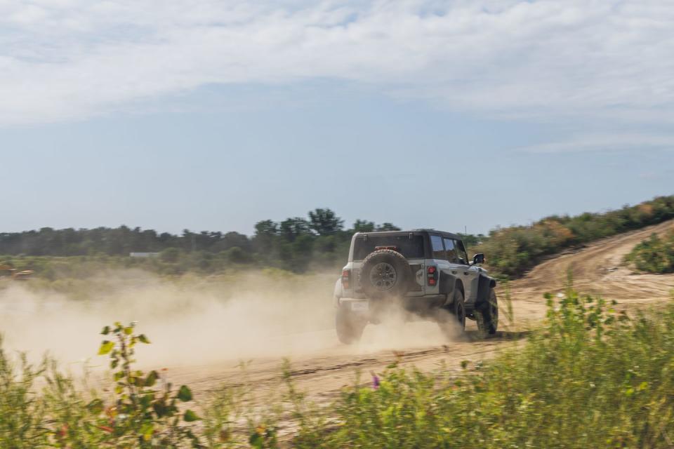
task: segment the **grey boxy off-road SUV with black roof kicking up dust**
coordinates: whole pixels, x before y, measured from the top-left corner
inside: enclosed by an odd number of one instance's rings
[[[357,232],[349,260],[335,285],[336,330],[345,344],[357,342],[367,323],[379,323],[392,308],[432,319],[448,334],[477,321],[480,334],[496,333],[496,281],[468,261],[456,234],[432,229]]]

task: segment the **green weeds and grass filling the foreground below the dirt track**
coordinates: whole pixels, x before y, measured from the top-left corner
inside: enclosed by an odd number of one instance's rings
[[[103,330],[110,391],[84,391],[49,361],[0,351],[3,448],[669,448],[674,438],[674,305],[616,314],[571,288],[548,297],[519,349],[463,371],[390,366],[327,407],[296,389],[253,401],[254,386],[192,398],[133,368],[133,326]],[[196,412],[192,411],[196,410]]]

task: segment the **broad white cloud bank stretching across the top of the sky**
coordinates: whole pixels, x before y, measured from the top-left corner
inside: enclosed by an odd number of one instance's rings
[[[0,0],[0,124],[312,78],[489,114],[670,122],[672,55],[674,8],[656,0]]]

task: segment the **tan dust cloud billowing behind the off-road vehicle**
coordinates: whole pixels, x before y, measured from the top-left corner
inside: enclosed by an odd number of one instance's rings
[[[137,321],[152,344],[138,348],[141,366],[194,366],[265,356],[364,354],[443,344],[435,323],[404,323],[393,314],[369,325],[359,344],[334,332],[334,274],[247,272],[165,279],[135,270],[92,279],[39,279],[0,284],[4,348],[37,360],[48,352],[67,365],[97,357],[100,330]]]

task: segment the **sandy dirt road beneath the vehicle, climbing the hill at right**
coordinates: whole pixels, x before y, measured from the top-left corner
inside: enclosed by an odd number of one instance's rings
[[[505,321],[501,323],[503,330],[487,340],[473,339],[473,322],[468,324],[465,337],[451,342],[442,337],[435,324],[424,322],[407,323],[403,328],[388,330],[368,326],[361,344],[353,347],[339,344],[333,329],[298,334],[295,336],[298,340],[310,341],[312,347],[320,349],[293,357],[293,377],[300,389],[320,402],[335,396],[343,385],[352,383],[357,370],[362,372],[362,381],[366,382],[371,371],[380,372],[393,361],[421,369],[444,363],[448,369],[458,370],[463,360],[475,362],[489,358],[496,351],[518,344],[520,332],[543,318],[543,293],[563,290],[568,269],[574,275],[576,290],[617,300],[619,307],[667,300],[674,288],[674,275],[632,274],[622,265],[622,260],[636,243],[652,232],[662,233],[673,227],[674,220],[621,234],[538,265],[527,276],[511,284],[514,322],[508,323],[502,318]],[[503,291],[499,294],[502,297]],[[502,310],[503,307],[501,304]],[[256,389],[275,388],[281,377],[281,360],[275,357],[253,359],[246,370],[248,381]],[[236,365],[237,361],[223,361],[206,366],[174,366],[169,372],[173,381],[185,382],[197,392],[206,392],[222,382],[241,382],[242,373]]]

